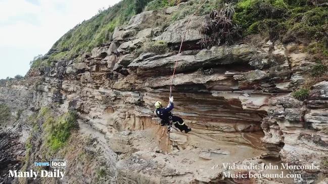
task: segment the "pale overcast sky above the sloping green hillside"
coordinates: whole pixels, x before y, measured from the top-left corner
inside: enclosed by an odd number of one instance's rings
[[[0,79],[24,76],[76,24],[120,0],[0,0]]]

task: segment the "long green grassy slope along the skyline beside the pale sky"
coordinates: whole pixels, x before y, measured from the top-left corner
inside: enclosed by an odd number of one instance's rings
[[[123,0],[98,15],[76,25],[63,35],[46,56],[38,55],[31,61],[31,68],[49,66],[54,60],[75,58],[111,39],[114,28],[126,24],[142,12],[150,0]]]

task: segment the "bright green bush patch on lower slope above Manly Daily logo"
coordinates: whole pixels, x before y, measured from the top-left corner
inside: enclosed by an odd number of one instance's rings
[[[47,110],[45,110],[46,112]],[[47,113],[40,111],[40,115]],[[43,124],[46,133],[46,143],[53,150],[57,151],[63,147],[71,135],[71,130],[76,127],[76,113],[69,111],[57,119],[48,116]]]

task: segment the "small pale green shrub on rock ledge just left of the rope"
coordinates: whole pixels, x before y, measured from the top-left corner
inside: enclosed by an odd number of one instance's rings
[[[157,41],[149,41],[143,44],[142,47],[138,48],[135,51],[136,55],[140,55],[141,53],[152,52],[156,54],[164,54],[171,51],[167,46],[167,43],[163,40]]]

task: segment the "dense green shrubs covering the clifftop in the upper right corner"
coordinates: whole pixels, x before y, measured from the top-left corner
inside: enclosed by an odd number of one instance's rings
[[[307,0],[242,0],[236,5],[235,21],[245,35],[283,36],[284,42],[322,39],[328,9]]]

